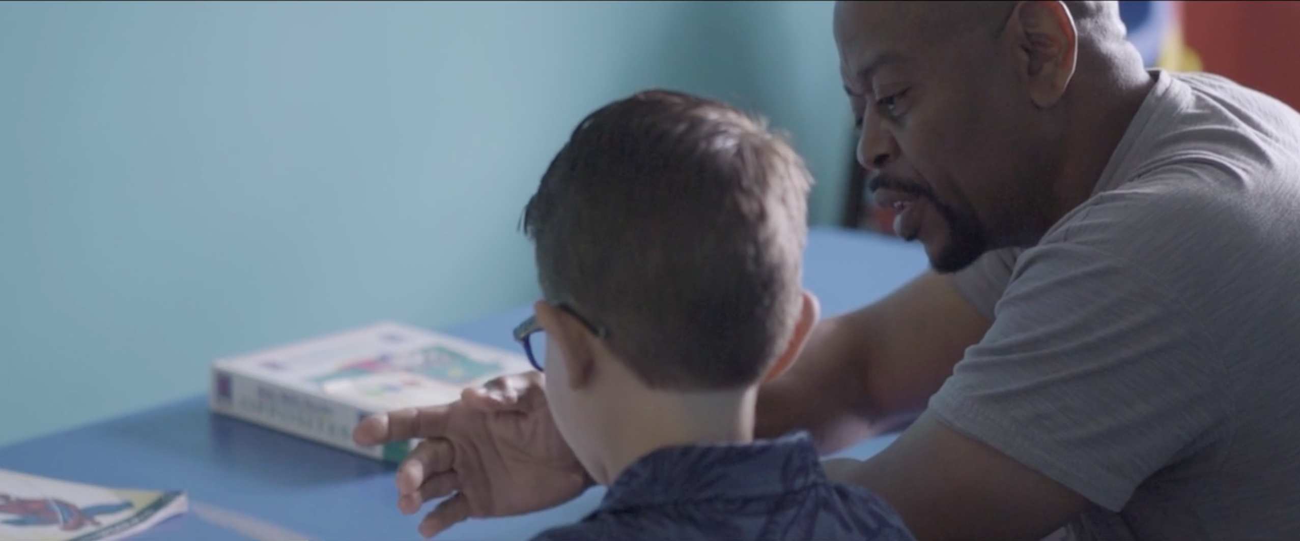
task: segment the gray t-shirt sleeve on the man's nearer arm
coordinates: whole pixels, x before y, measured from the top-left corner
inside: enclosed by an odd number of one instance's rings
[[[930,409],[1118,511],[1225,418],[1205,340],[1141,269],[1088,245],[1040,245],[1020,254],[993,326]]]

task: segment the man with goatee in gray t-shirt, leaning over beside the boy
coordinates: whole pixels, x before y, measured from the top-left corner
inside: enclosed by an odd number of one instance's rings
[[[875,197],[937,272],[820,323],[759,436],[923,410],[836,468],[919,540],[1300,538],[1300,114],[1144,70],[1114,3],[841,3],[835,38]],[[568,457],[546,416],[514,378],[356,436],[432,437],[398,487],[467,496],[433,533],[581,489],[519,493]]]

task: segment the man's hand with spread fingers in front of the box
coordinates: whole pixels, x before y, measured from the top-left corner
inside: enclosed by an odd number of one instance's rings
[[[359,445],[412,437],[426,441],[398,467],[398,509],[455,493],[420,523],[425,537],[471,516],[552,507],[592,484],[551,420],[540,372],[497,378],[446,406],[372,415],[352,432]]]

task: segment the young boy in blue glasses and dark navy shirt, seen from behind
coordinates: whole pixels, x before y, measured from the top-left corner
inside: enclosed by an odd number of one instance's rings
[[[758,384],[818,317],[810,183],[760,121],[684,93],[573,131],[524,213],[545,300],[516,337],[608,493],[537,540],[911,540],[883,501],[827,481],[806,435],[753,436]]]

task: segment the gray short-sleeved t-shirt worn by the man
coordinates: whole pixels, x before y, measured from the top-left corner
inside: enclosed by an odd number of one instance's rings
[[[1079,540],[1300,540],[1300,114],[1157,83],[1089,200],[954,275],[930,410],[1092,502]]]

